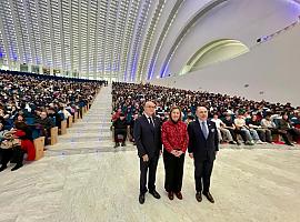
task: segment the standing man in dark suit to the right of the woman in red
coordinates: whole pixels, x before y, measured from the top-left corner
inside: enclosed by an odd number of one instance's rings
[[[188,151],[194,163],[196,199],[201,202],[202,192],[211,203],[214,203],[209,188],[213,161],[219,151],[218,131],[216,123],[208,120],[207,108],[198,107],[196,114],[198,119],[188,125]]]

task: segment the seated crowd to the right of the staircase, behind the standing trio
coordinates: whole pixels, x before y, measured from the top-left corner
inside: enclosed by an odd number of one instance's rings
[[[293,108],[290,103],[256,102],[240,97],[149,83],[113,82],[112,127],[116,147],[119,145],[120,138],[127,138],[127,129],[130,132],[130,140],[133,141],[134,121],[142,114],[146,101],[156,103],[156,114],[161,122],[168,120],[172,107],[181,108],[182,121],[187,123],[194,121],[198,105],[209,108],[209,118],[217,124],[220,143],[241,144],[241,141],[248,145],[281,143],[278,135],[288,145],[300,141],[300,107]]]

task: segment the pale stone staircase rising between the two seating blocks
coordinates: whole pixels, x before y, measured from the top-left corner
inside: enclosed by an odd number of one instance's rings
[[[103,87],[96,97],[91,109],[78,120],[68,133],[60,135],[58,143],[47,147],[46,157],[70,155],[97,152],[118,152],[136,150],[131,143],[113,148],[111,125],[111,84]]]

